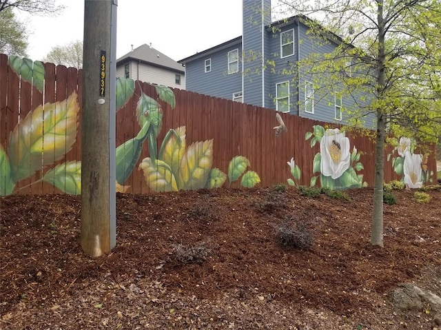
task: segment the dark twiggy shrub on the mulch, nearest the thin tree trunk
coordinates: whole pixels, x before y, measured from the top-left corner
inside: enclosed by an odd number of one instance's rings
[[[309,249],[314,244],[314,236],[305,223],[282,223],[276,231],[279,243],[285,247]]]

